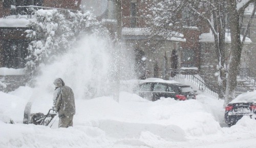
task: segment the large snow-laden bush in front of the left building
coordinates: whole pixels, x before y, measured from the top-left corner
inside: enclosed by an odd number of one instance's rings
[[[38,10],[26,30],[31,42],[26,58],[26,70],[36,74],[41,63],[54,60],[56,55],[71,50],[80,33],[92,31],[99,22],[92,15],[81,12]]]

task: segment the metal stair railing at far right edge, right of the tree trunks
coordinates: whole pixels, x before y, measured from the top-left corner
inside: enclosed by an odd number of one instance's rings
[[[249,85],[256,87],[256,75],[249,68],[239,68],[237,79],[245,80]]]

